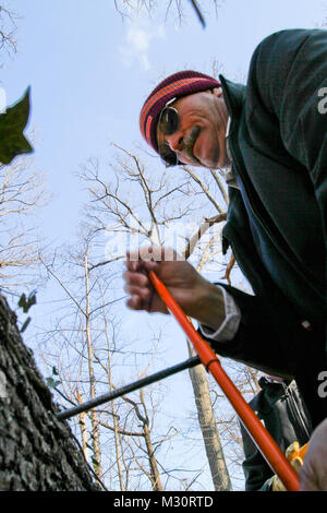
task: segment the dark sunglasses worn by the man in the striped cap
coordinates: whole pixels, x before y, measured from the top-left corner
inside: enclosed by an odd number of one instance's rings
[[[175,102],[175,98],[170,99],[160,112],[158,120],[158,128],[164,135],[172,135],[180,126],[179,112],[175,108],[171,107],[171,104]],[[166,142],[159,145],[159,155],[166,167],[177,166],[181,164],[178,158],[178,154],[173,152],[169,144]]]

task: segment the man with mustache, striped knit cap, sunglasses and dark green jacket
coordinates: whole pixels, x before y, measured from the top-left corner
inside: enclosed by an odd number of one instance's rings
[[[313,427],[327,417],[326,371],[327,33],[283,31],[255,50],[246,87],[193,71],[146,99],[141,131],[166,165],[226,168],[230,246],[254,296],[213,285],[187,262],[131,255],[134,310],[166,308],[155,270],[222,356],[294,378]]]

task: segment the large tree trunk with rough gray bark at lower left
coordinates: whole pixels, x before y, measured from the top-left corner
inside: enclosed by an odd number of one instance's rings
[[[66,421],[0,296],[0,490],[97,491]]]

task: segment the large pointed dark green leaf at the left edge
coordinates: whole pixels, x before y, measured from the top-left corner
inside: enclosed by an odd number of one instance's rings
[[[27,87],[22,99],[0,114],[1,164],[10,164],[15,156],[33,152],[23,134],[29,117],[29,91],[31,87]]]

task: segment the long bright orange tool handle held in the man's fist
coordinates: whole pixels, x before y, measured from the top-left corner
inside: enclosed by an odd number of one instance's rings
[[[206,370],[213,374],[226,397],[239,415],[243,426],[246,428],[253,441],[258,446],[274,472],[282,480],[287,490],[298,491],[300,484],[296,472],[286,458],[272,437],[259,421],[251,406],[249,406],[246,401],[242,397],[233,382],[226,374],[216,353],[207,342],[199,336],[169,290],[153,271],[149,272],[149,278],[168,310],[175,318],[190,342],[192,342],[202,363],[205,366]]]

